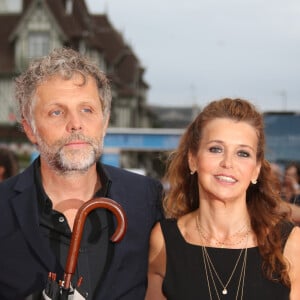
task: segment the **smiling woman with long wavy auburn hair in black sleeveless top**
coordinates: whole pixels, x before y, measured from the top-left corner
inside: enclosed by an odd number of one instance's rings
[[[151,234],[147,300],[300,299],[300,229],[278,209],[264,147],[245,100],[211,102],[190,124]]]

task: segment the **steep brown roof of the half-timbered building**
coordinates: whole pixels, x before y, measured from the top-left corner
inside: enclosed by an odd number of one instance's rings
[[[37,0],[23,0],[20,13],[0,14],[0,74],[9,76],[16,72],[13,34],[34,1]],[[79,41],[84,40],[91,49],[104,55],[108,76],[120,95],[135,95],[137,86],[148,88],[138,58],[107,15],[90,14],[84,0],[73,0],[71,13],[66,12],[67,0],[44,0],[44,3],[63,32],[65,46],[78,49]]]

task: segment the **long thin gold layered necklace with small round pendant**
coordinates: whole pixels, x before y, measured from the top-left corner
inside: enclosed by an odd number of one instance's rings
[[[198,216],[197,216],[198,217]],[[198,218],[196,218],[196,225],[197,228],[199,228],[199,220]],[[223,281],[221,280],[209,254],[207,251],[207,248],[205,246],[201,247],[202,250],[202,258],[203,258],[203,263],[204,263],[204,269],[205,269],[205,275],[206,275],[206,281],[207,281],[207,286],[208,286],[208,291],[209,291],[209,295],[210,295],[210,300],[212,300],[212,287],[214,288],[215,294],[218,298],[218,300],[220,300],[220,294],[219,294],[219,290],[217,288],[217,284],[215,282],[215,278],[217,279],[217,281],[219,282],[219,284],[222,287],[222,291],[221,293],[225,296],[228,294],[228,285],[231,282],[231,279],[233,277],[233,275],[236,272],[237,266],[239,265],[239,262],[241,260],[241,257],[243,255],[243,260],[242,260],[242,266],[241,266],[241,273],[239,276],[239,280],[238,280],[238,286],[237,286],[237,291],[236,291],[236,297],[235,299],[238,300],[238,296],[240,294],[240,299],[243,299],[243,292],[244,292],[244,283],[245,283],[245,274],[246,274],[246,264],[247,264],[247,251],[248,248],[246,248],[247,246],[247,242],[248,242],[248,234],[249,234],[249,230],[246,233],[246,244],[245,247],[241,249],[238,258],[234,264],[233,270],[228,278],[228,280],[226,281],[226,283],[224,284]],[[200,231],[199,231],[199,235],[201,235]],[[212,285],[212,287],[211,287]]]

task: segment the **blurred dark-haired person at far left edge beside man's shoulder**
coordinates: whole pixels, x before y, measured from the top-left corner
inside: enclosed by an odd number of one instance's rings
[[[0,182],[17,175],[19,161],[17,155],[6,147],[0,147]]]

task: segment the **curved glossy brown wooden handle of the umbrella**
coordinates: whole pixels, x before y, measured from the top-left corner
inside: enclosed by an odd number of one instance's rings
[[[125,212],[120,204],[115,202],[112,199],[98,197],[93,198],[85,202],[79,209],[76,214],[71,238],[71,244],[69,248],[67,263],[65,267],[64,282],[62,283],[63,287],[68,289],[71,284],[71,276],[75,272],[78,252],[80,248],[80,242],[82,237],[82,231],[85,224],[87,215],[96,208],[106,208],[110,210],[115,217],[117,218],[117,228],[110,238],[112,242],[119,242],[125,235],[127,229],[127,219]]]

